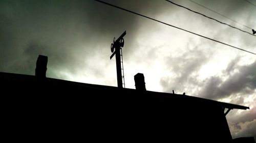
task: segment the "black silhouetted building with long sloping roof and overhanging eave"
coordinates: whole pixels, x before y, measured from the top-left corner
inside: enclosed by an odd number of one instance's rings
[[[3,136],[58,141],[232,142],[224,109],[249,109],[146,91],[143,74],[134,78],[136,90],[0,72]]]

